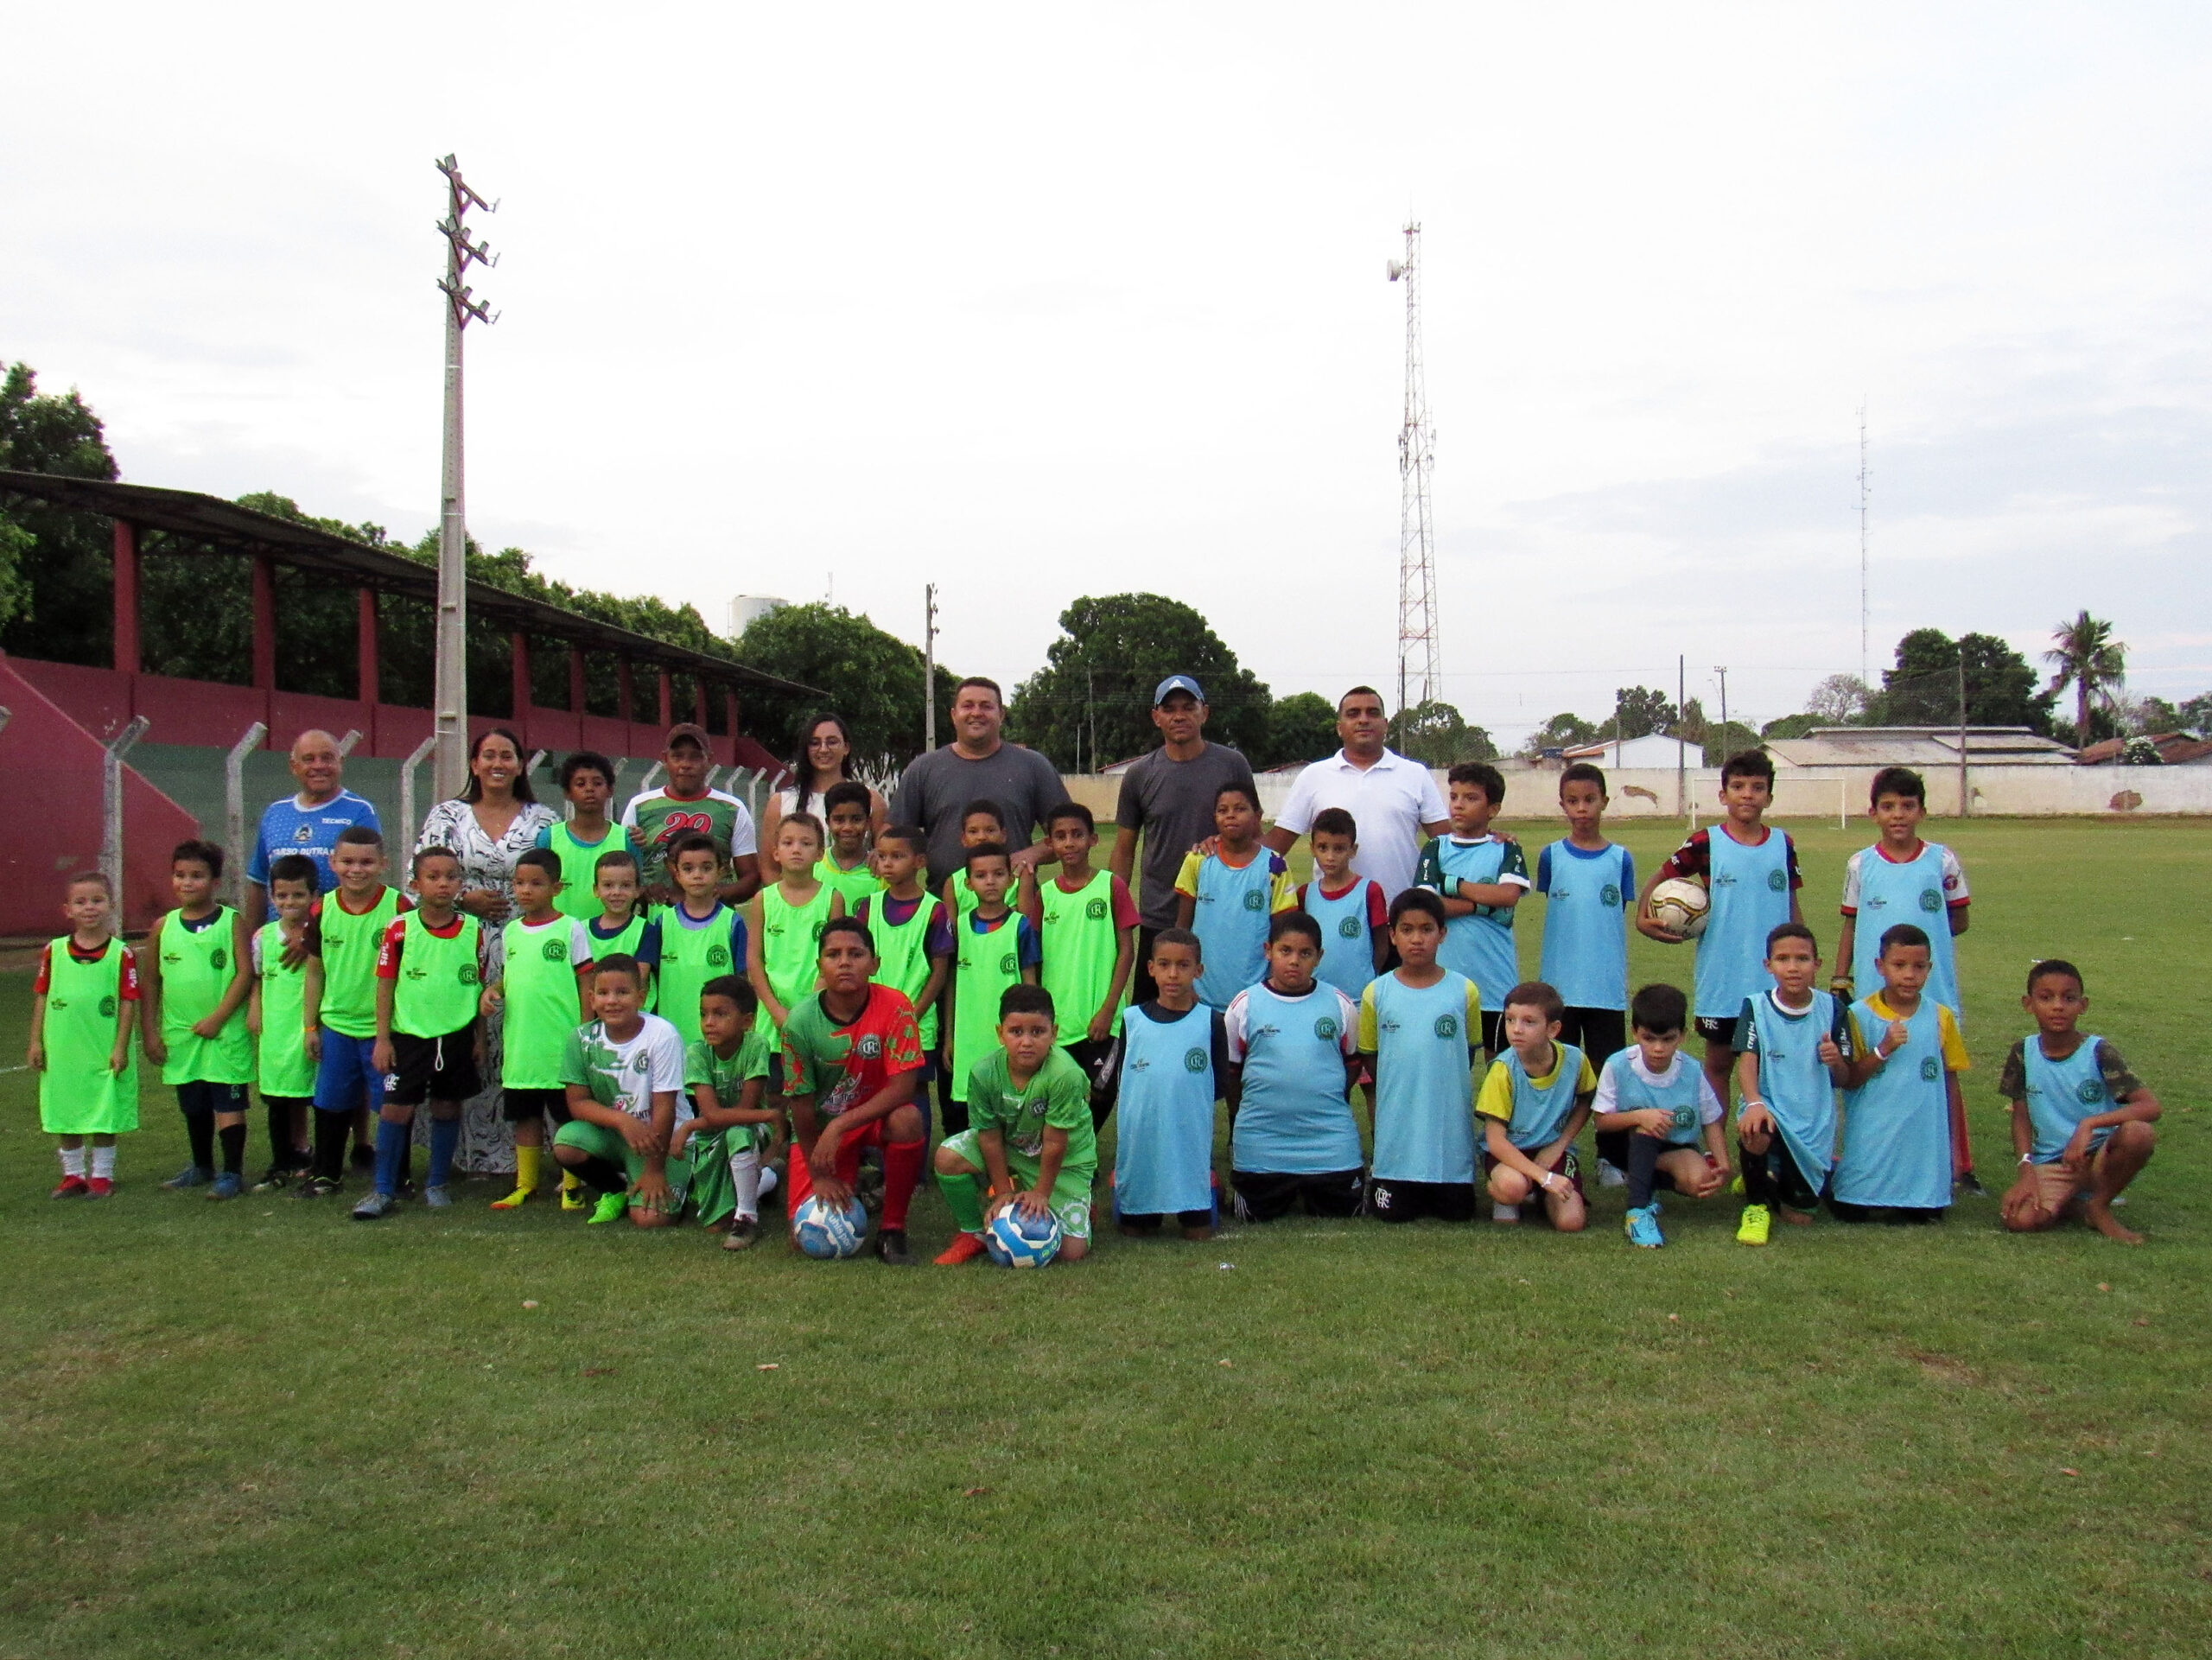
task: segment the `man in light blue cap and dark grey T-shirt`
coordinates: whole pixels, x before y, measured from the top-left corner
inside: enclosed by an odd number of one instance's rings
[[[1137,985],[1130,1003],[1159,994],[1152,985],[1152,936],[1175,927],[1175,872],[1183,854],[1214,832],[1214,797],[1230,784],[1254,790],[1252,764],[1228,744],[1206,741],[1206,693],[1190,675],[1168,675],[1152,691],[1152,726],[1161,746],[1121,775],[1113,854],[1106,865],[1130,881],[1137,837],[1144,837],[1144,885],[1137,890]]]

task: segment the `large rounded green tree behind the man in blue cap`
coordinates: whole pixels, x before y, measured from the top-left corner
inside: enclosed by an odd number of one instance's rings
[[[1062,611],[1044,668],[1013,691],[1009,737],[1044,750],[1064,772],[1144,755],[1159,744],[1152,688],[1168,675],[1206,688],[1210,739],[1267,753],[1267,686],[1239,666],[1206,618],[1157,593],[1082,598]]]

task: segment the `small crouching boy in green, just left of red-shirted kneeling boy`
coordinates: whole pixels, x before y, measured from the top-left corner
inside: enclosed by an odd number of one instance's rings
[[[668,1160],[690,1162],[699,1224],[723,1231],[723,1251],[745,1251],[761,1237],[761,1195],[776,1186],[768,1164],[776,1109],[761,1102],[774,1060],[761,1042],[759,1007],[737,974],[701,987],[699,1040],[684,1047],[692,1116],[668,1138]]]

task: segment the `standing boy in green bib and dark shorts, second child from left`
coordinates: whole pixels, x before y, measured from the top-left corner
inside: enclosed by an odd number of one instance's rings
[[[177,1087],[177,1109],[192,1142],[192,1162],[161,1186],[208,1186],[210,1200],[246,1191],[246,1085],[254,1078],[254,1038],[246,998],[254,989],[252,936],[246,919],[215,899],[223,850],[212,841],[179,841],[168,857],[177,910],[146,941],[146,1058],[161,1082]],[[215,1142],[223,1169],[215,1171]]]

